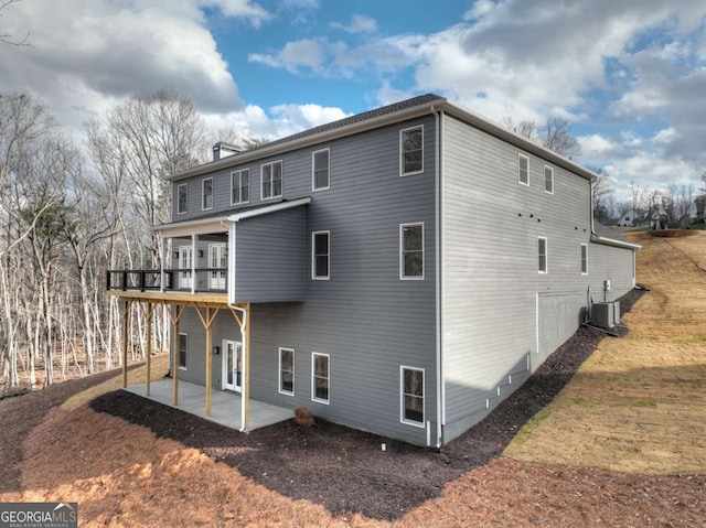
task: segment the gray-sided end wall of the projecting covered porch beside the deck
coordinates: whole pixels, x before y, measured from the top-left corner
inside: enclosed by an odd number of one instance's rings
[[[235,302],[301,301],[308,269],[307,207],[235,226]]]

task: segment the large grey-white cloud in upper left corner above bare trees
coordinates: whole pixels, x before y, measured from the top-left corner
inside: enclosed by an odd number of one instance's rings
[[[243,108],[227,64],[203,25],[199,7],[204,3],[231,15],[264,17],[245,1],[13,4],[12,23],[30,31],[31,46],[0,46],[0,91],[30,90],[74,130],[116,103],[162,88],[189,96],[202,111]]]

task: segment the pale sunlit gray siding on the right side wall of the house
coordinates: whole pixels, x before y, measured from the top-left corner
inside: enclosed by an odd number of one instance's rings
[[[585,295],[588,282],[580,273],[579,251],[580,244],[590,239],[590,182],[448,116],[443,123],[445,441],[449,441],[544,359],[537,348],[537,327],[543,324],[538,295]],[[530,158],[528,186],[517,182],[518,153]],[[545,163],[554,168],[554,194],[544,191]],[[537,237],[548,243],[546,274],[537,272]],[[571,332],[578,316],[566,315]],[[564,323],[560,327],[563,341],[570,333]]]

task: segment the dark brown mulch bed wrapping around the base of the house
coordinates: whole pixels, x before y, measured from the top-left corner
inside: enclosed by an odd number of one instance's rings
[[[643,293],[633,290],[624,295],[621,311],[629,312]],[[498,457],[605,337],[597,328],[579,328],[485,420],[441,452],[324,420],[312,428],[288,420],[240,434],[125,391],[100,396],[90,407],[145,425],[159,438],[200,449],[256,483],[293,499],[322,504],[333,515],[353,511],[393,520],[439,496],[449,482]],[[381,450],[382,443],[386,443],[386,452]]]

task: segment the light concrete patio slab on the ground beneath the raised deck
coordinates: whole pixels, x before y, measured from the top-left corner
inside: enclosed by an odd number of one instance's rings
[[[211,416],[206,416],[204,405],[206,388],[190,381],[179,381],[179,405],[173,405],[173,379],[162,379],[150,384],[150,394],[146,395],[145,384],[124,388],[128,392],[142,398],[173,407],[174,409],[211,420],[236,431],[242,424],[242,399],[237,392],[215,390],[211,396]],[[271,406],[257,400],[249,400],[248,431],[289,420],[293,417],[291,409]]]

